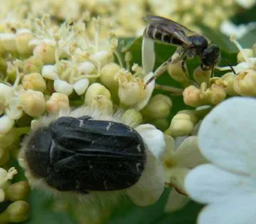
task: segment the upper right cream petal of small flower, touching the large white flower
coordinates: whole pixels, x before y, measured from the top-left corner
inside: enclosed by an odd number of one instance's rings
[[[177,167],[196,167],[198,164],[206,163],[198,147],[198,138],[190,136],[183,140],[174,153],[174,160]]]

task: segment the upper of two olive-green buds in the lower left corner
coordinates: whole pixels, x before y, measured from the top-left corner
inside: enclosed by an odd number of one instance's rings
[[[30,190],[28,181],[19,181],[15,184],[11,184],[4,189],[6,199],[9,201],[23,200],[28,196]]]

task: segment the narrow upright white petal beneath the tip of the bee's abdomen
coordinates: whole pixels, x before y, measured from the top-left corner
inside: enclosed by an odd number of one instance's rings
[[[142,39],[142,67],[144,73],[148,74],[154,69],[155,63],[155,52],[154,52],[154,41],[149,38]]]

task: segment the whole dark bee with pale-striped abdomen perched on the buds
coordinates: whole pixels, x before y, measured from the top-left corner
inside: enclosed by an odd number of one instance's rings
[[[146,84],[163,74],[169,63],[175,64],[181,61],[183,72],[188,74],[185,65],[189,58],[199,56],[201,69],[204,71],[213,71],[220,60],[220,48],[217,45],[211,45],[210,41],[203,35],[160,16],[146,16],[144,20],[149,23],[144,30],[144,38],[178,47],[174,55],[156,69],[154,77],[151,77]]]

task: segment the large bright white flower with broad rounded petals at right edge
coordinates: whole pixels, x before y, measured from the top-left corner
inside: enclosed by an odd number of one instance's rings
[[[193,169],[185,181],[191,198],[206,203],[198,223],[255,223],[256,100],[233,97],[201,123],[198,144],[213,164]]]

